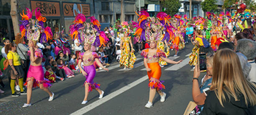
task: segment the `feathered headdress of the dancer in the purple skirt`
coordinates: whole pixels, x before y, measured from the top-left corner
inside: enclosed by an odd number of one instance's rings
[[[86,22],[83,14],[78,14],[74,19],[74,24],[69,27],[71,38],[77,39],[80,43],[88,43],[95,46],[104,45],[108,41],[105,33],[100,31],[100,22],[95,17],[89,17],[90,22]]]

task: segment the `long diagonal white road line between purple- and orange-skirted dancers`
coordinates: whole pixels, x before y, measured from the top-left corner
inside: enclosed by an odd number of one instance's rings
[[[136,81],[134,81],[133,83],[128,84],[127,86],[124,86],[123,88],[120,88],[117,91],[114,91],[113,93],[110,93],[108,95],[106,95],[105,97],[103,97],[102,99],[96,100],[95,102],[75,111],[74,113],[71,113],[70,115],[83,115],[84,113],[87,113],[88,111],[96,108],[97,106],[101,105],[102,103],[107,102],[108,100],[114,98],[115,96],[129,90],[130,88],[138,85],[139,83],[145,81],[148,79],[148,76],[144,76]]]

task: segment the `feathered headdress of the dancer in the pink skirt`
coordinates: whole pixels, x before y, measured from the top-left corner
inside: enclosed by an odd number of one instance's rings
[[[24,39],[38,41],[40,43],[47,42],[49,39],[52,39],[51,28],[44,27],[46,18],[41,16],[40,8],[36,8],[35,10],[36,19],[32,19],[34,10],[31,11],[28,8],[26,8],[26,10],[27,15],[24,14],[24,10],[23,15],[20,14],[22,17],[22,23],[20,24],[21,38],[24,37]]]

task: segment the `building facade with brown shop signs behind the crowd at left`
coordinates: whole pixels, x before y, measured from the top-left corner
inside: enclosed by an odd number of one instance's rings
[[[125,21],[136,20],[135,0],[124,0],[123,10]],[[10,16],[10,0],[0,0],[0,35],[14,40],[13,23]],[[94,16],[100,21],[101,29],[114,24],[121,16],[120,0],[18,0],[18,17],[23,10],[26,14],[29,9],[41,9],[41,15],[46,17],[44,26],[64,29],[69,34],[69,26],[73,24],[74,17],[81,13],[86,17]],[[33,13],[33,16],[34,13]],[[53,31],[54,32],[54,31]]]

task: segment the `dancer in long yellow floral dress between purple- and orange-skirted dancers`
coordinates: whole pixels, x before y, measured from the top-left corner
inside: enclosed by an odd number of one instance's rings
[[[133,68],[133,64],[136,61],[136,56],[134,55],[134,49],[131,37],[128,37],[128,34],[131,33],[131,24],[128,24],[128,22],[122,22],[122,31],[124,34],[124,37],[121,37],[120,41],[120,49],[121,49],[121,58],[120,58],[120,66],[124,66],[123,69],[127,68]],[[130,30],[131,29],[131,30]],[[131,45],[131,49],[130,49]]]

